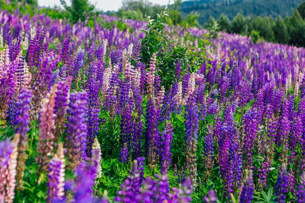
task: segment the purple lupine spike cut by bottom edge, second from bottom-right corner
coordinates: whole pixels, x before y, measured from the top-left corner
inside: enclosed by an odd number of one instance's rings
[[[286,171],[286,166],[282,165],[282,168],[278,175],[278,180],[276,184],[276,201],[279,203],[284,203],[286,199],[286,195],[288,192],[288,174]]]

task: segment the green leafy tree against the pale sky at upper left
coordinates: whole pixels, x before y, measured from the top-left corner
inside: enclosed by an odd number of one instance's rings
[[[84,21],[86,17],[93,16],[95,6],[91,5],[88,0],[71,0],[71,6],[67,6],[65,0],[60,0],[60,4],[70,13],[73,23],[79,20]]]

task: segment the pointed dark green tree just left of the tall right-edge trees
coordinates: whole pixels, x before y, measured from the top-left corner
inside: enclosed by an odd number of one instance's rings
[[[273,33],[277,43],[287,44],[289,42],[288,29],[281,16],[278,16],[273,26]]]

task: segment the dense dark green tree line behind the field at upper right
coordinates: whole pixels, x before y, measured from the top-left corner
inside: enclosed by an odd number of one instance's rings
[[[207,29],[211,30],[211,24],[214,19],[210,17]],[[296,9],[292,16],[285,17],[283,20],[278,16],[274,21],[273,18],[261,16],[243,16],[238,13],[232,22],[224,14],[218,20],[219,30],[224,30],[230,33],[252,36],[252,39],[257,43],[258,39],[264,39],[268,42],[277,42],[281,44],[290,44],[298,47],[305,46],[305,21]],[[212,32],[211,32],[212,33]],[[259,36],[257,35],[259,33]]]

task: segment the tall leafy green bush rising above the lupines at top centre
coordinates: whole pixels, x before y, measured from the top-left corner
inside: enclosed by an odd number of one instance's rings
[[[161,77],[162,85],[165,90],[170,88],[175,79],[175,64],[181,59],[184,65],[192,64],[194,66],[201,65],[204,57],[199,56],[203,52],[193,52],[188,49],[187,42],[190,36],[181,39],[182,43],[177,43],[173,40],[171,33],[166,33],[165,23],[168,22],[167,15],[168,7],[165,7],[163,12],[157,15],[157,19],[147,17],[148,29],[143,30],[145,37],[142,39],[141,58],[145,62],[146,67],[149,65],[150,57],[157,54],[157,71]],[[191,40],[191,39],[190,39]],[[194,39],[192,39],[194,40]],[[202,47],[201,47],[202,46]],[[203,48],[203,42],[198,42],[198,47]],[[198,59],[200,58],[200,59]]]

